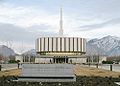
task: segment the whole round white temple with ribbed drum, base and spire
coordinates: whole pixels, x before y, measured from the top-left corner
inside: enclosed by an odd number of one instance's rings
[[[63,36],[62,8],[60,10],[59,36],[36,39],[35,63],[86,63],[86,39]]]

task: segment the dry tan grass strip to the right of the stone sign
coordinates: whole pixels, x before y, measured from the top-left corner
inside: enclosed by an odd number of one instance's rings
[[[103,70],[103,69],[83,67],[80,65],[75,66],[74,72],[77,76],[100,76],[100,77],[120,76],[120,72],[113,72],[113,71]]]

